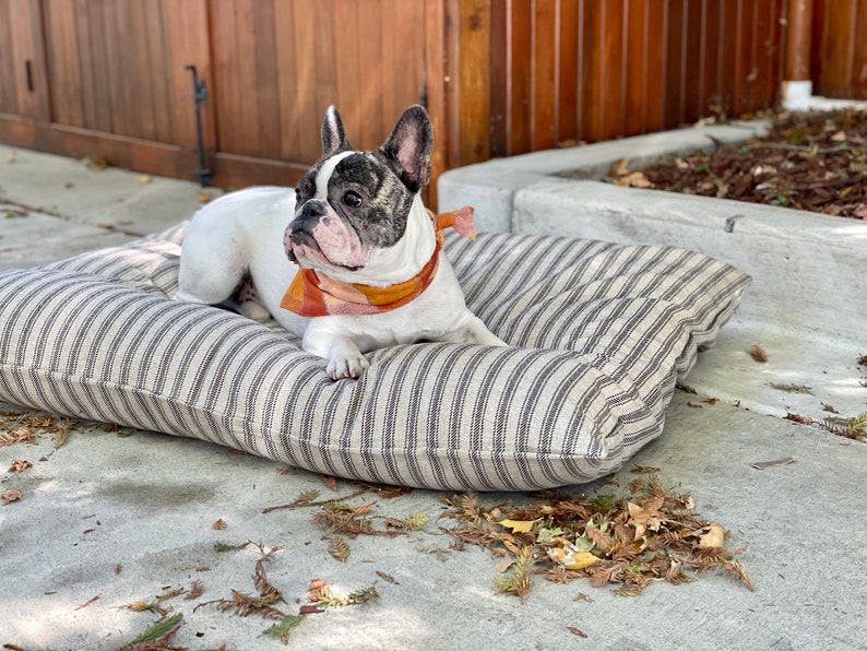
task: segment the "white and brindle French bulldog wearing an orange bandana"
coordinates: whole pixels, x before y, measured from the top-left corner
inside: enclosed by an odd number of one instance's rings
[[[333,106],[321,135],[322,158],[295,189],[233,192],[194,215],[175,299],[218,305],[242,288],[238,311],[272,315],[334,380],[359,377],[364,353],[394,344],[506,345],[467,309],[441,250],[443,215],[419,196],[434,147],[427,111],[407,108],[370,152],[353,150]],[[446,217],[467,226],[465,212]]]

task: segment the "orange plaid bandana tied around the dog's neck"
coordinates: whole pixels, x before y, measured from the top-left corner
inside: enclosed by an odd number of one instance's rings
[[[427,289],[439,267],[446,228],[454,228],[470,239],[476,238],[473,228],[473,209],[460,208],[449,213],[434,216],[428,211],[437,234],[437,245],[427,264],[408,281],[375,287],[335,281],[312,269],[299,269],[289,288],[283,296],[280,307],[302,317],[325,317],[328,315],[377,315],[406,305]]]

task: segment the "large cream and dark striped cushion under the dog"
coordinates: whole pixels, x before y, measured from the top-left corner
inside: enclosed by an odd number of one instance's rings
[[[0,398],[371,482],[562,486],[661,434],[749,284],[674,248],[450,235],[467,304],[512,347],[395,346],[333,382],[274,322],[168,300],[182,235],[0,274]]]

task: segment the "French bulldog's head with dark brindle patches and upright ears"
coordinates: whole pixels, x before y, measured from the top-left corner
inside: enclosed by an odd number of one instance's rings
[[[322,122],[322,158],[298,182],[286,255],[324,272],[363,270],[371,255],[406,232],[418,192],[430,179],[434,135],[427,111],[407,108],[378,150],[352,149],[337,109]]]

